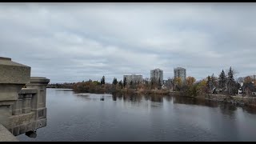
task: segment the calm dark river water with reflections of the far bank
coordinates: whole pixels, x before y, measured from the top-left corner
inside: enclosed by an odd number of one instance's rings
[[[256,141],[256,111],[159,96],[47,89],[47,126],[20,141]]]

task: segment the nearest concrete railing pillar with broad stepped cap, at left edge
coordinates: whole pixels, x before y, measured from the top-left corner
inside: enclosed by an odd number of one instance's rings
[[[0,123],[8,127],[11,105],[18,100],[18,92],[30,82],[30,66],[0,57]]]

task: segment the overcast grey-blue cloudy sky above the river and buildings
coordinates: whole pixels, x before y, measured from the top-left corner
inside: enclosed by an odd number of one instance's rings
[[[1,3],[0,56],[55,82],[255,74],[256,3]]]

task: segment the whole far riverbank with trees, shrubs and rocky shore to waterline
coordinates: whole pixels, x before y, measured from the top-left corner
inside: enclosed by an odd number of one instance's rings
[[[244,84],[254,82],[255,79],[246,77]],[[256,83],[256,81],[255,81]],[[254,84],[255,84],[254,83]],[[255,86],[255,85],[254,85]],[[180,96],[197,99],[206,99],[210,101],[226,102],[236,106],[250,106],[256,108],[256,97],[253,97],[248,87],[243,87],[242,95],[238,95],[238,89],[241,88],[239,82],[234,81],[234,70],[224,70],[219,74],[218,78],[214,74],[203,78],[196,82],[194,77],[187,77],[186,82],[182,82],[181,78],[169,78],[162,85],[154,79],[144,79],[142,82],[127,83],[114,78],[112,84],[105,82],[105,76],[101,82],[98,81],[82,81],[63,84],[49,84],[48,88],[69,88],[75,93],[91,93],[91,94],[155,94],[159,96]]]

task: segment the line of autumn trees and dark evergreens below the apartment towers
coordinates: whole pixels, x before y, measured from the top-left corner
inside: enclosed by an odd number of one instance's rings
[[[113,93],[120,90],[162,90],[162,82],[160,78],[149,79],[144,78],[142,81],[130,81],[126,78],[118,81],[114,78],[112,83],[105,82],[105,76],[102,76],[101,81],[82,81],[76,83],[65,83],[58,88],[72,88],[75,92],[86,93]],[[241,78],[240,78],[241,80]],[[243,78],[243,82],[253,82],[250,77]],[[234,70],[231,68],[225,73],[224,70],[215,77],[214,74],[208,75],[202,80],[196,81],[194,77],[187,77],[185,82],[182,78],[168,78],[164,83],[166,90],[180,91],[182,94],[189,96],[198,96],[202,94],[238,94],[238,89],[241,87],[239,81],[234,80]]]

